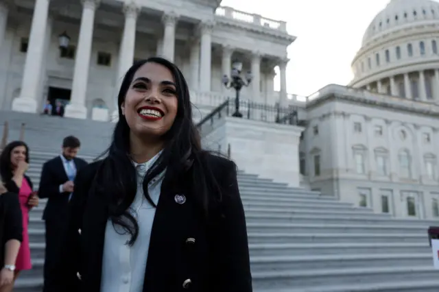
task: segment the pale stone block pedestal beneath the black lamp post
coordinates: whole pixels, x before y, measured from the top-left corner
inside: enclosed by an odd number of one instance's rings
[[[202,142],[205,148],[224,154],[230,145],[230,159],[246,173],[298,187],[302,131],[292,125],[225,117],[206,123]]]

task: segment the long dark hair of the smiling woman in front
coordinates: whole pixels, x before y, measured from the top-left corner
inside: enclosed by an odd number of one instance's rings
[[[211,190],[219,192],[219,187],[211,169],[204,158],[206,152],[202,150],[200,135],[192,121],[192,105],[189,98],[189,88],[185,77],[175,64],[163,58],[149,58],[134,63],[126,73],[117,97],[119,109],[119,121],[115,126],[110,147],[104,153],[104,158],[96,173],[92,188],[104,194],[108,203],[108,215],[113,226],[119,225],[131,236],[129,245],[136,241],[139,226],[128,208],[132,204],[137,191],[136,170],[132,165],[130,156],[130,127],[121,111],[121,104],[125,101],[126,93],[137,70],[146,63],[156,63],[165,66],[171,71],[176,82],[178,98],[178,110],[174,124],[163,137],[165,147],[162,154],[147,171],[143,180],[143,193],[146,199],[155,206],[148,193],[148,183],[159,173],[166,169],[166,178],[176,178],[188,167],[192,167],[191,177],[193,193],[198,195],[196,201],[204,215],[207,215],[209,208],[209,193]],[[217,199],[220,199],[217,197]]]

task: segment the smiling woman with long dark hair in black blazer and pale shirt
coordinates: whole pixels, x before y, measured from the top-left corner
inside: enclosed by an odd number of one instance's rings
[[[180,70],[135,63],[118,107],[108,156],[76,176],[57,291],[252,291],[236,165],[201,148]]]

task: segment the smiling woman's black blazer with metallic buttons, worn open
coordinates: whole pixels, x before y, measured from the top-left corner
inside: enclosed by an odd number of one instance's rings
[[[69,229],[56,279],[59,291],[99,292],[108,207],[88,190],[99,162],[78,173]],[[222,202],[200,212],[191,191],[189,168],[175,181],[165,175],[152,226],[143,292],[251,292],[252,278],[244,208],[235,163],[208,155],[222,190]],[[177,204],[175,196],[185,195]],[[191,242],[187,239],[195,239]],[[78,274],[80,277],[78,277]],[[183,283],[191,280],[189,287]],[[105,291],[102,291],[105,292]]]

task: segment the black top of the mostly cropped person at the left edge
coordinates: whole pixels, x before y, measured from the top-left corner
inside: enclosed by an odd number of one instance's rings
[[[0,195],[0,265],[2,267],[5,260],[5,243],[11,239],[23,241],[23,217],[19,196],[8,191]]]

